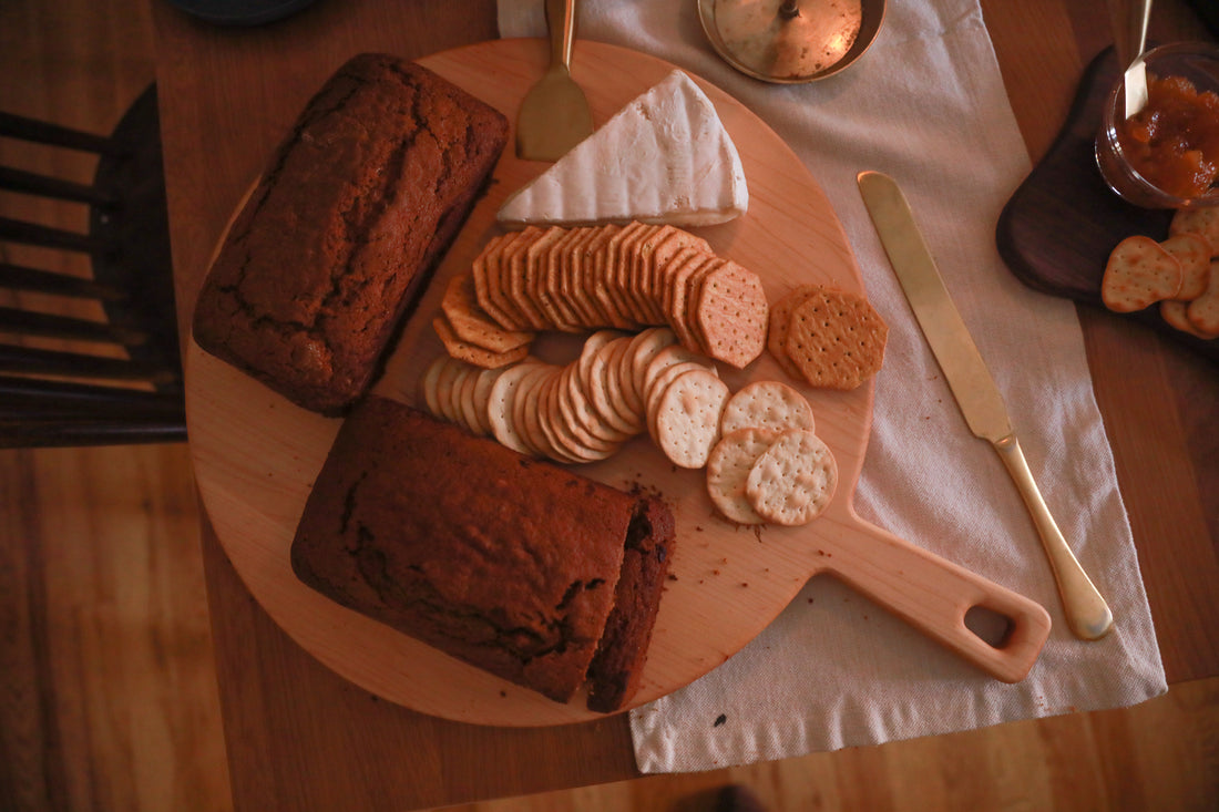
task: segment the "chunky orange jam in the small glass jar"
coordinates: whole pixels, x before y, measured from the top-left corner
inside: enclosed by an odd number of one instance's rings
[[[1147,106],[1118,127],[1131,167],[1179,198],[1206,194],[1219,178],[1219,95],[1179,76],[1147,76]]]

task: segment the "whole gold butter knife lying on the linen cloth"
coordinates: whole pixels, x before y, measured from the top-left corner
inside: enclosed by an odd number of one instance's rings
[[[892,178],[879,172],[861,172],[856,180],[897,282],[969,430],[998,452],[1020,491],[1050,560],[1072,633],[1082,640],[1104,636],[1113,625],[1113,613],[1075,558],[1037,490],[1003,396],[948,295],[906,195]]]

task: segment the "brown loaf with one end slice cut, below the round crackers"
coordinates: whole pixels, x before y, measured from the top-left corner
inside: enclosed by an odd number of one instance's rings
[[[628,539],[633,550],[655,550],[653,529],[670,545],[672,527],[658,499],[641,506],[639,496],[369,395],[317,477],[291,564],[344,606],[567,701],[589,674],[611,610],[628,616],[624,627],[635,629],[638,616],[651,629],[659,590],[623,601],[616,588]],[[663,555],[649,558],[641,580],[652,582]],[[619,673],[641,666],[644,652],[631,646],[646,647],[646,636],[616,633],[610,645],[623,652],[613,662],[623,664],[605,669],[616,688],[595,688],[599,696],[627,697],[630,680]]]

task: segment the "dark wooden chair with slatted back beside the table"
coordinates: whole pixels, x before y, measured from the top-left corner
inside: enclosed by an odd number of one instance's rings
[[[184,440],[156,85],[108,137],[0,112],[0,138],[96,155],[91,184],[0,166],[0,189],[89,219],[76,232],[0,217],[0,447]],[[5,244],[85,257],[90,273],[10,261]],[[98,316],[55,307],[69,300]]]

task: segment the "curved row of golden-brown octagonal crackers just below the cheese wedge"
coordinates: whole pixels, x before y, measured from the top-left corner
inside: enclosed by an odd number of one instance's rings
[[[768,311],[756,274],[673,226],[529,226],[450,282],[435,326],[450,355],[485,367],[519,361],[541,330],[667,326],[742,368],[766,346]]]

